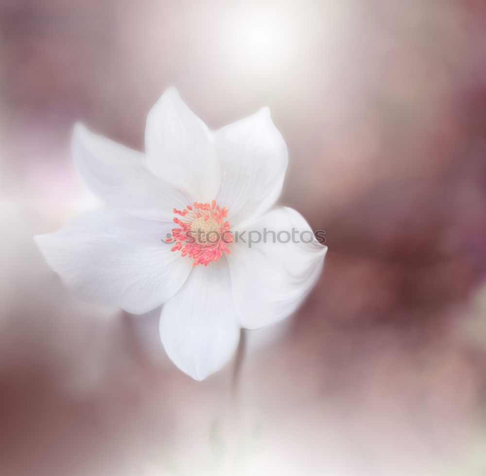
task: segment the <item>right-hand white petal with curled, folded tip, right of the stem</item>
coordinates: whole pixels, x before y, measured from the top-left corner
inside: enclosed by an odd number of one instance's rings
[[[268,232],[266,242],[264,229]],[[261,234],[260,243],[253,243],[250,248],[249,242],[240,240],[227,255],[236,309],[244,328],[258,329],[292,314],[321,273],[327,246],[316,240],[304,243],[300,238],[298,243],[278,242],[278,232],[283,231],[280,238],[286,241],[285,231],[292,234],[292,229],[299,236],[307,231],[304,240],[312,239],[310,226],[298,212],[277,208],[248,227],[254,232],[254,241],[258,239],[255,232]],[[275,243],[270,231],[276,233]]]

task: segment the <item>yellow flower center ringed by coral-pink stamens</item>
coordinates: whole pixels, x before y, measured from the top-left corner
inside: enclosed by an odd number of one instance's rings
[[[179,228],[174,228],[172,238],[166,240],[168,243],[175,241],[171,251],[181,251],[182,256],[193,258],[193,266],[208,266],[223,253],[230,253],[226,245],[233,242],[233,234],[226,221],[228,211],[225,207],[217,205],[215,200],[194,202],[184,210],[174,208],[174,213],[182,218],[174,218]]]

